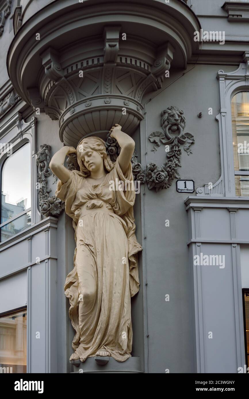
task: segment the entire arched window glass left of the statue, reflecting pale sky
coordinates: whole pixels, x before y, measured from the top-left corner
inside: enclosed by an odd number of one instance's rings
[[[1,170],[0,241],[31,224],[30,143],[24,144],[4,161]]]

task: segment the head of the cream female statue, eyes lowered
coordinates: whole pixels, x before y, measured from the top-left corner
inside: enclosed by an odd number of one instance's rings
[[[76,150],[80,171],[84,177],[90,176],[92,171],[99,170],[103,164],[107,172],[114,167],[114,163],[106,153],[105,142],[99,137],[83,138]]]

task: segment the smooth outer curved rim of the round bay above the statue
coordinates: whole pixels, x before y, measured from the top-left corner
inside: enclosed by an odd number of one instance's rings
[[[162,43],[171,43],[177,67],[185,67],[198,50],[193,32],[199,30],[199,21],[183,1],[171,0],[167,4],[163,0],[84,0],[76,4],[71,0],[55,1],[28,19],[10,45],[7,69],[17,93],[30,102],[27,89],[38,86],[40,54],[46,48],[53,47],[60,53],[62,47],[102,34],[104,26],[113,24],[122,26],[128,37],[141,36],[143,41],[153,38],[155,49]],[[37,33],[40,40],[36,40]]]

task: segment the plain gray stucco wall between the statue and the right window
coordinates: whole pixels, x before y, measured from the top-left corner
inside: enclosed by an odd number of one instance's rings
[[[182,148],[179,173],[182,179],[193,179],[195,188],[208,182],[215,183],[220,176],[219,126],[215,120],[219,112],[216,79],[219,69],[233,71],[236,68],[197,65],[146,105],[147,136],[161,130],[163,109],[176,105],[184,112],[184,131],[194,135],[195,144],[191,146],[193,154],[189,156]],[[164,81],[164,87],[181,73],[170,70],[170,78]],[[144,104],[152,95],[145,96]],[[209,107],[213,108],[213,115],[208,115]],[[199,112],[203,114],[200,119],[197,117]],[[140,130],[141,160],[145,165],[145,121],[141,122]],[[166,160],[163,144],[155,153],[151,152],[152,148],[153,144],[147,140],[147,162],[161,165]],[[165,369],[170,373],[194,372],[186,198],[187,194],[176,192],[175,182],[158,193],[145,189],[147,251],[145,255],[143,250],[143,273],[146,262],[150,373],[163,373]],[[169,219],[169,227],[165,227],[166,219]],[[165,301],[166,294],[169,294],[169,302]]]

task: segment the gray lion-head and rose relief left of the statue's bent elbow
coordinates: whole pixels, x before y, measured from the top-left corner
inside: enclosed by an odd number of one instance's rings
[[[50,154],[50,146],[48,144],[42,144],[36,158],[36,164],[38,166],[39,205],[43,217],[58,216],[65,207],[65,203],[61,199],[49,195],[52,190],[47,186],[47,178],[53,174],[49,168],[51,160]],[[56,176],[54,176],[53,184],[56,183],[56,180]]]

